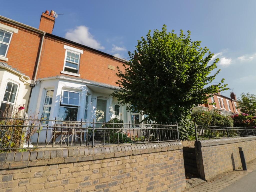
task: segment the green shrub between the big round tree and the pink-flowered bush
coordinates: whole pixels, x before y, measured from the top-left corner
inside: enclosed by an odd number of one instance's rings
[[[230,116],[222,115],[217,110],[194,111],[191,116],[197,125],[233,127],[233,119]]]

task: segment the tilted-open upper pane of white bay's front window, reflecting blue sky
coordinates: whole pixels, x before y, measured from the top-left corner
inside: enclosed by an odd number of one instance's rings
[[[62,90],[61,104],[80,106],[80,92]]]

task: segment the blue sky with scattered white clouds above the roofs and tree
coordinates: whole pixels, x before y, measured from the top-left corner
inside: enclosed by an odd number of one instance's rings
[[[149,29],[191,31],[220,58],[216,82],[225,78],[237,96],[256,94],[256,1],[8,1],[1,15],[38,28],[40,15],[59,15],[53,34],[126,58]],[[231,90],[222,94],[229,96]]]

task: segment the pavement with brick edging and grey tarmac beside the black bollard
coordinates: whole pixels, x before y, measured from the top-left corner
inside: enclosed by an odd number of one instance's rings
[[[247,165],[247,171],[234,170],[223,177],[204,183],[186,192],[241,192],[256,191],[256,160]]]

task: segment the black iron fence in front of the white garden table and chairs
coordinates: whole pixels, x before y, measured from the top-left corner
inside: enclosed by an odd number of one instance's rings
[[[0,118],[0,151],[168,141],[179,141],[177,124]]]

